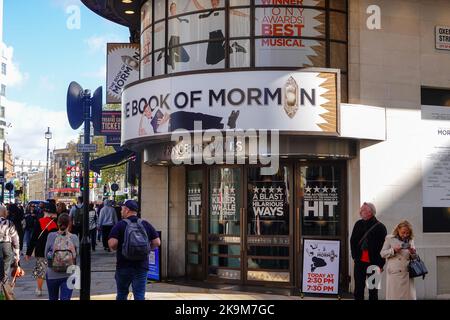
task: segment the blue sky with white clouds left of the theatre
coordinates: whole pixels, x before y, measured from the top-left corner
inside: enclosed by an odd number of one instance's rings
[[[66,9],[70,5],[81,9],[79,29],[67,27],[71,15]],[[5,0],[3,24],[3,41],[14,50],[13,64],[20,79],[8,86],[7,120],[12,129],[7,139],[15,156],[44,159],[42,129],[54,128],[52,148],[64,147],[76,136],[65,116],[69,83],[75,80],[92,90],[104,87],[106,43],[128,42],[129,31],[97,16],[77,0]],[[24,113],[30,115],[25,121]],[[24,134],[36,136],[34,144],[24,143]]]

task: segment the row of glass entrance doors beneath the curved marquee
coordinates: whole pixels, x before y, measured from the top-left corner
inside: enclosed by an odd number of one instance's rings
[[[271,176],[254,166],[189,168],[187,276],[300,288],[304,238],[339,240],[346,252],[345,167],[288,161]]]

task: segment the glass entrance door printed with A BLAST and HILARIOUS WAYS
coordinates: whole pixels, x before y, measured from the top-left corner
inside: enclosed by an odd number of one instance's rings
[[[247,172],[247,281],[292,282],[292,170],[281,165],[264,176]]]

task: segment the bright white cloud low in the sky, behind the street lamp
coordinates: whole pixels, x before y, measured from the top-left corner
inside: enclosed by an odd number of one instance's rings
[[[13,155],[26,160],[45,160],[47,140],[44,133],[47,127],[53,134],[50,150],[65,148],[67,143],[78,138],[72,130],[66,111],[50,111],[39,106],[21,102],[7,103],[7,121],[12,124],[6,139],[11,145]]]

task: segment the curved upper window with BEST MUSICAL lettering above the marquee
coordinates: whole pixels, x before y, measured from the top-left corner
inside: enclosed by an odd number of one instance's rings
[[[345,102],[347,10],[346,0],[150,0],[141,8],[141,78],[212,69],[338,68]]]

